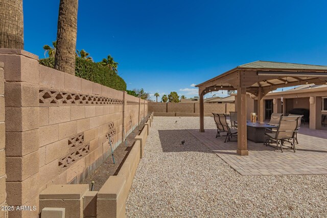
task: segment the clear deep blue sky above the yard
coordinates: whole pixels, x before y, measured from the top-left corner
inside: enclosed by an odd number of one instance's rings
[[[44,57],[58,7],[24,0],[26,51]],[[80,0],[77,49],[97,62],[111,54],[128,89],[192,97],[192,84],[256,60],[327,65],[326,8],[325,0]]]

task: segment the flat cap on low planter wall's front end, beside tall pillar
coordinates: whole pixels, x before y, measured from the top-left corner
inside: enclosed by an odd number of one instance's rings
[[[39,199],[80,199],[88,187],[88,184],[51,185],[40,193]]]

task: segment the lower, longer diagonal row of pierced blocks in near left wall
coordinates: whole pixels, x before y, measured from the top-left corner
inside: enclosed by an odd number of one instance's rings
[[[85,146],[81,146],[73,152],[61,157],[59,159],[58,167],[59,172],[64,172],[67,168],[72,166],[77,160],[85,157],[90,152],[90,144],[87,143]]]

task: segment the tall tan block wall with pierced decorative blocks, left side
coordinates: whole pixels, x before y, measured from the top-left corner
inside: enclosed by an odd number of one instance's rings
[[[10,211],[9,217],[37,217],[42,190],[53,184],[79,183],[111,154],[109,136],[114,149],[122,142],[123,120],[127,120],[124,95],[128,95],[39,65],[38,57],[26,51],[0,49],[0,61],[8,96],[7,204],[37,208]],[[136,99],[137,106],[126,104],[133,124],[141,113]],[[144,104],[143,113],[147,113]],[[0,190],[4,188],[0,183]],[[0,203],[2,199],[0,195]]]

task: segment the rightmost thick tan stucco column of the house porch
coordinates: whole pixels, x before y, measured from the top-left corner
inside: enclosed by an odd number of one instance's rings
[[[310,101],[309,128],[313,130],[321,129],[321,97],[311,96],[309,101]]]

